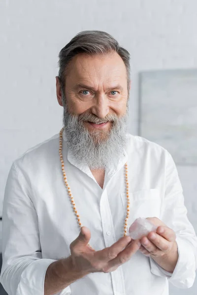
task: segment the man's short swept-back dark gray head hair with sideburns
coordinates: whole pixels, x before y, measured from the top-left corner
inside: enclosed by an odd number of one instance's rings
[[[129,52],[120,47],[118,41],[114,39],[110,34],[99,30],[85,30],[76,34],[69,43],[59,53],[59,79],[61,89],[64,92],[65,79],[67,74],[67,68],[71,59],[79,54],[86,53],[87,55],[103,55],[111,52],[117,52],[123,59],[128,78],[128,93],[130,87],[130,54]]]

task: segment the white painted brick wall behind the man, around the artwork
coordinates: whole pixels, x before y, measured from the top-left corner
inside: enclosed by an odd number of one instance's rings
[[[131,53],[130,125],[137,134],[138,72],[197,67],[196,0],[0,1],[0,215],[12,161],[58,133],[58,53],[79,31],[111,33]],[[197,167],[177,167],[197,232]],[[188,290],[197,294],[197,280]]]

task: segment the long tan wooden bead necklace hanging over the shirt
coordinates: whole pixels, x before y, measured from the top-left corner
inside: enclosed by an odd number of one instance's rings
[[[60,131],[60,139],[59,139],[59,154],[60,154],[60,161],[61,161],[61,165],[62,165],[62,172],[63,172],[63,177],[64,177],[64,182],[65,182],[65,185],[66,185],[66,188],[67,188],[67,192],[68,192],[68,196],[70,197],[70,201],[71,201],[71,204],[73,206],[73,210],[74,210],[74,213],[77,217],[77,222],[79,224],[79,227],[81,228],[82,227],[82,224],[81,224],[81,220],[80,220],[80,216],[79,216],[79,213],[77,211],[77,208],[76,208],[76,205],[75,205],[75,202],[74,202],[74,198],[72,196],[72,193],[71,193],[71,189],[67,183],[67,177],[66,177],[66,172],[65,172],[65,163],[64,163],[64,160],[63,160],[63,154],[62,154],[62,144],[63,144],[63,131],[64,131],[64,127],[61,129]],[[127,195],[127,215],[126,215],[126,218],[125,218],[125,223],[124,223],[124,234],[123,236],[127,236],[127,224],[128,224],[128,218],[129,218],[129,214],[130,214],[130,198],[129,198],[129,181],[128,181],[128,165],[127,163],[125,163],[125,182],[126,182],[126,195]],[[88,246],[91,247],[90,244],[88,244]],[[95,249],[93,247],[91,247],[94,251]]]

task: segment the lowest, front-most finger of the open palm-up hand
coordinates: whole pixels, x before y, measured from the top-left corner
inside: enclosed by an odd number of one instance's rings
[[[125,262],[130,260],[131,256],[135,254],[137,250],[139,250],[140,246],[141,246],[141,243],[139,242],[139,240],[133,240],[128,247],[126,247],[122,252],[118,254],[116,258],[108,262],[107,267],[110,269],[110,268],[113,268],[114,266],[118,267],[124,264]]]

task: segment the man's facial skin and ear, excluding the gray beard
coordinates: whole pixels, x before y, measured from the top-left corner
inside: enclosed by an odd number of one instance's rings
[[[103,56],[76,55],[68,66],[65,97],[67,110],[72,115],[91,114],[91,121],[84,126],[101,134],[110,131],[113,122],[110,115],[122,117],[126,114],[128,100],[126,66],[117,53]],[[63,106],[59,80],[57,96]],[[83,116],[83,115],[82,115]],[[97,124],[97,123],[101,124]]]

